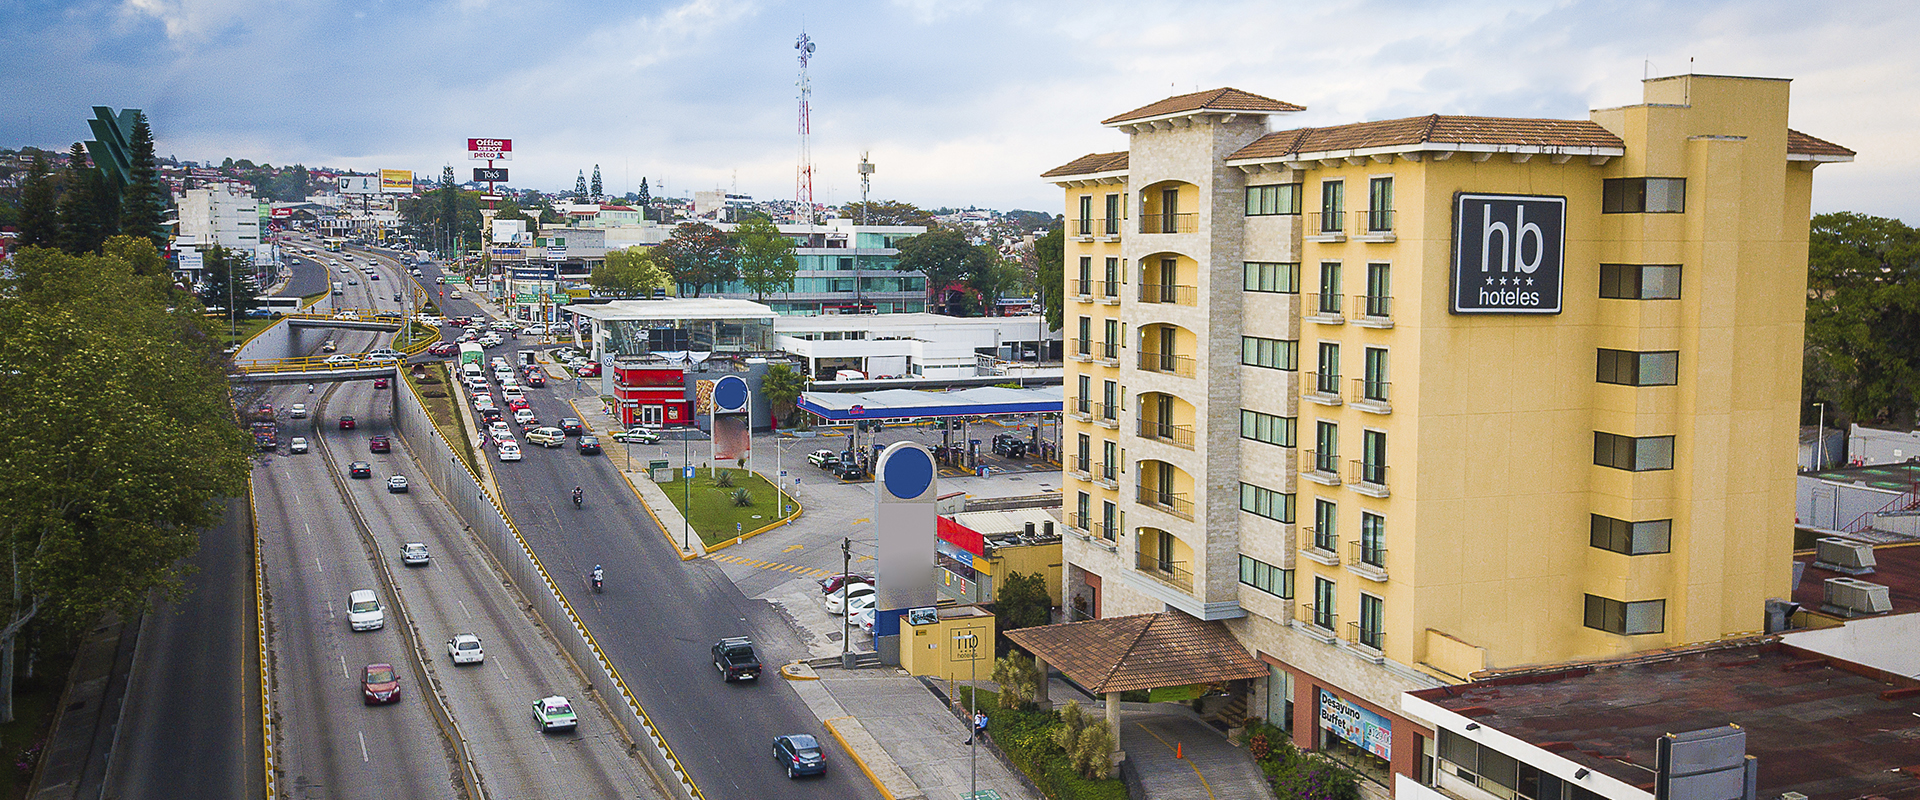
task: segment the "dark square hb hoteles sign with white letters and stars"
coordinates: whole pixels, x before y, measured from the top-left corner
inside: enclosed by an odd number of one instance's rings
[[[1567,198],[1453,196],[1455,315],[1557,315]]]

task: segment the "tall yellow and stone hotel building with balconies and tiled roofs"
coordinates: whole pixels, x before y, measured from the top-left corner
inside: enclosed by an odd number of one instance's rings
[[[1788,129],[1788,86],[1286,130],[1300,106],[1221,88],[1106,119],[1127,150],[1043,175],[1069,618],[1223,620],[1273,668],[1246,714],[1380,773],[1430,746],[1402,691],[1761,631],[1812,169],[1853,159]]]

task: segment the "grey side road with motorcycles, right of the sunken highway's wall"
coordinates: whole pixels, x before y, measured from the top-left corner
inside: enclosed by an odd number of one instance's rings
[[[426,280],[438,272],[422,271]],[[444,309],[478,313],[472,303],[451,299]],[[513,341],[495,351],[516,359]],[[534,412],[547,424],[574,416],[559,397],[572,393],[570,386],[549,382],[549,389],[530,389]],[[601,441],[614,447],[605,435]],[[584,579],[563,581],[563,591],[707,798],[879,796],[776,675],[781,658],[804,656],[785,618],[741,595],[718,566],[682,562],[605,457],[582,457],[572,439],[563,449],[522,441],[522,451],[520,462],[492,464],[509,512],[549,572],[586,576],[593,564],[607,568],[603,595],[586,591]],[[584,508],[572,508],[574,485],[586,487]],[[758,683],[722,683],[716,675],[708,647],[732,635],[751,635],[760,647],[768,671]],[[812,733],[829,742],[824,777],[785,777],[770,756],[772,739],[785,733]]]

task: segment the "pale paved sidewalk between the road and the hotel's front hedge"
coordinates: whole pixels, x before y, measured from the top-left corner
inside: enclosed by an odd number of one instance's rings
[[[964,744],[968,725],[918,677],[893,670],[824,670],[793,691],[895,800],[1039,800],[998,758]],[[989,712],[991,714],[991,712]],[[829,756],[831,758],[831,756]]]

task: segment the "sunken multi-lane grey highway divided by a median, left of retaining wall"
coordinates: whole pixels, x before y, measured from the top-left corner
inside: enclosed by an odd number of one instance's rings
[[[359,251],[351,265],[363,271],[365,255]],[[342,299],[392,307],[405,271],[386,261],[380,271],[384,280],[363,278]],[[386,336],[340,332],[336,340],[342,351],[355,351]],[[415,478],[409,493],[386,491],[392,474],[419,476],[397,437],[392,453],[369,453],[371,435],[394,434],[390,391],[372,389],[371,382],[340,384],[324,395],[276,389],[276,407],[319,405],[311,418],[292,420],[294,430],[282,434],[282,439],[307,435],[315,449],[307,455],[282,449],[255,472],[282,794],[457,796],[457,750],[428,706],[428,687],[438,685],[488,798],[557,796],[555,787],[566,787],[568,796],[659,796],[564,656],[543,639],[478,545],[461,533],[463,524],[434,489]],[[342,414],[355,416],[357,428],[340,430]],[[372,480],[346,478],[351,460],[371,462]],[[397,549],[405,541],[426,543],[432,564],[401,566]],[[386,629],[348,629],[344,602],[351,589],[382,597]],[[419,662],[409,656],[409,622],[424,647]],[[480,635],[486,662],[453,668],[444,647],[453,633]],[[399,670],[397,704],[361,704],[359,670],[371,662]],[[578,733],[536,729],[530,706],[545,694],[576,700]]]

